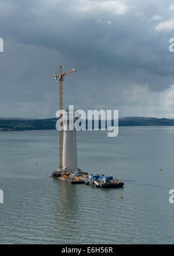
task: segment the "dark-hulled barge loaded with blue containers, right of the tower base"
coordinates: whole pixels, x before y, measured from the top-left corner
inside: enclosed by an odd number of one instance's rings
[[[100,176],[93,174],[89,175],[88,180],[86,180],[85,184],[90,184],[92,186],[104,188],[117,188],[124,186],[124,182],[121,182],[121,180],[114,179],[113,176]]]

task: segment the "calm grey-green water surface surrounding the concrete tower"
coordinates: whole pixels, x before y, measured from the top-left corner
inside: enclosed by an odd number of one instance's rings
[[[174,242],[174,127],[120,127],[115,138],[78,131],[79,168],[114,175],[123,189],[50,178],[55,130],[0,131],[0,143],[1,244]]]

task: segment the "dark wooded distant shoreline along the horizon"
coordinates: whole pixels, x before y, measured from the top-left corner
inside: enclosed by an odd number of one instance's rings
[[[54,130],[56,118],[51,119],[0,119],[0,131]],[[119,118],[119,126],[174,126],[174,119],[128,117]],[[114,120],[112,120],[112,126]],[[86,129],[87,129],[86,120]],[[94,127],[94,125],[93,125]],[[99,129],[101,120],[99,120]]]

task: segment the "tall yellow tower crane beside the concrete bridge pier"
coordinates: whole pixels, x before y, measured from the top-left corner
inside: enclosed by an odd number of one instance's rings
[[[77,69],[68,70],[66,72],[62,72],[61,66],[60,66],[60,72],[59,74],[54,74],[55,79],[57,80],[59,77],[59,109],[63,109],[63,80],[64,76],[66,74],[70,74],[77,71]],[[60,118],[62,115],[60,115]],[[62,126],[62,123],[60,124]],[[59,131],[59,169],[62,169],[62,153],[63,153],[63,130]]]

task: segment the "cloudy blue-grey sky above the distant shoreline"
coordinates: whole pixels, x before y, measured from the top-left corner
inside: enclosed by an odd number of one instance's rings
[[[0,0],[0,117],[54,118],[64,109],[174,118],[170,0]]]

